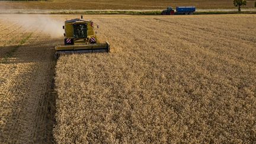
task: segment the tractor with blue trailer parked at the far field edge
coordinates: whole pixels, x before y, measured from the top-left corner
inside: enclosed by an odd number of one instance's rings
[[[193,14],[196,11],[196,7],[176,7],[176,11],[172,7],[168,7],[162,11],[162,15],[176,15],[176,14]]]

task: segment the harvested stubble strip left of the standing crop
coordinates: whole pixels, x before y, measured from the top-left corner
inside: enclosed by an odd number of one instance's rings
[[[0,143],[50,143],[56,40],[4,19],[0,27]]]

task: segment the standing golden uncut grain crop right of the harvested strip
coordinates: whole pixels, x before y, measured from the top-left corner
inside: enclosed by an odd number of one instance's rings
[[[112,52],[57,61],[57,143],[256,142],[256,15],[89,17]]]

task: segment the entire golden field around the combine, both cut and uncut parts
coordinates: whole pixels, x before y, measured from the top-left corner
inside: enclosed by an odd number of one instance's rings
[[[256,15],[0,15],[0,143],[255,143]],[[60,30],[59,30],[60,29]]]

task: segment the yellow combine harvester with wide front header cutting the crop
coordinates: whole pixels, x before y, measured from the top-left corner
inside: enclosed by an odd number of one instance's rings
[[[98,26],[97,26],[98,27]],[[55,47],[55,55],[68,53],[110,52],[110,44],[100,43],[94,31],[94,23],[76,18],[65,21],[64,45]]]

